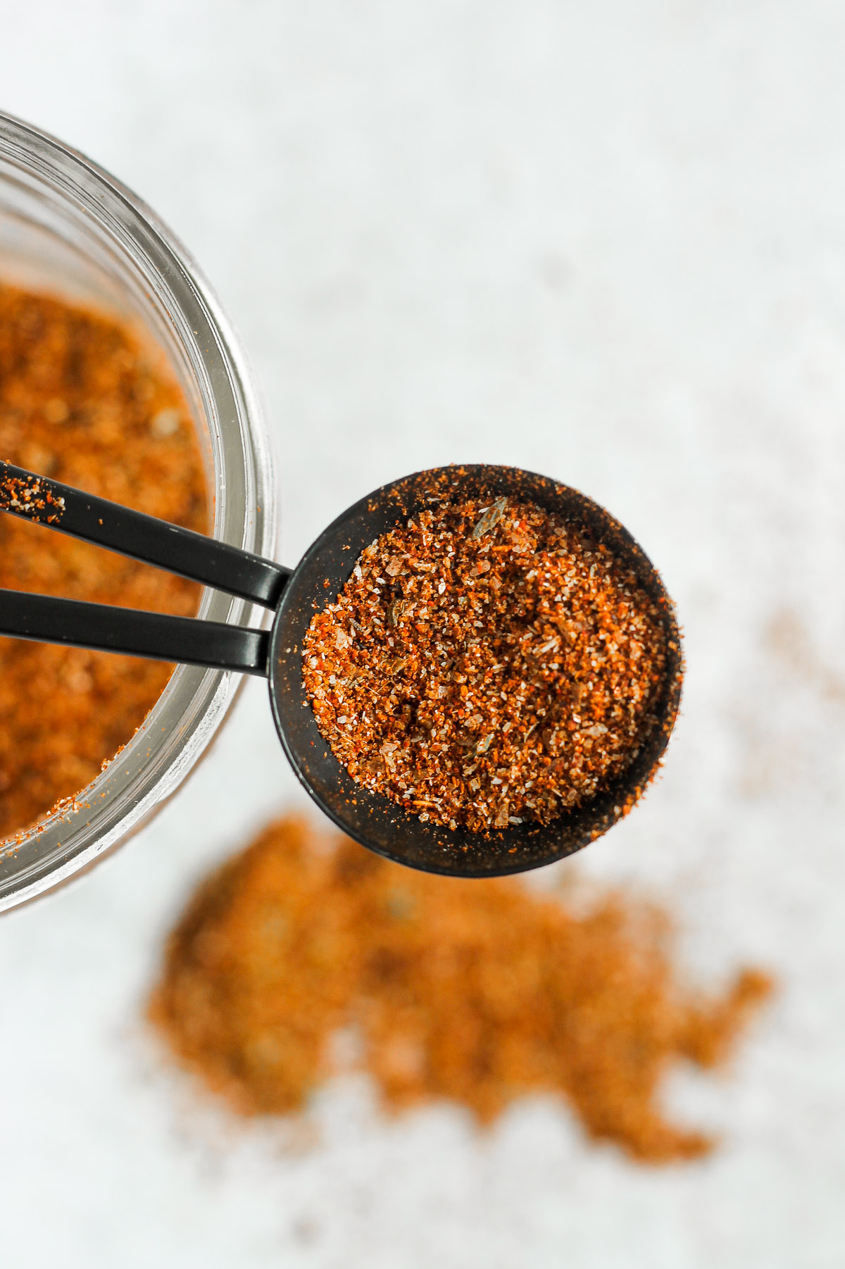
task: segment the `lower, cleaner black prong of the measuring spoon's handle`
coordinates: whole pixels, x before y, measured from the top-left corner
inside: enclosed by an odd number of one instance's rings
[[[268,631],[0,590],[0,634],[266,678]]]

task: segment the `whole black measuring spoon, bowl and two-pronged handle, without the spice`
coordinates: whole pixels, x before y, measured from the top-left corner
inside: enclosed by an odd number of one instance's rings
[[[302,641],[315,612],[334,602],[374,538],[443,497],[518,497],[580,525],[633,571],[662,614],[667,667],[658,726],[631,765],[590,802],[548,825],[524,821],[490,834],[421,822],[357,784],[320,735],[302,683]],[[524,872],[572,854],[606,832],[639,797],[669,742],[683,659],[675,612],[648,557],[627,529],[577,490],[516,467],[439,467],[384,485],[325,529],[291,571],[117,503],[11,464],[0,464],[0,510],[47,524],[275,610],[269,631],[0,590],[0,634],[237,670],[269,680],[282,746],[301,783],[334,822],[377,854],[453,877]]]

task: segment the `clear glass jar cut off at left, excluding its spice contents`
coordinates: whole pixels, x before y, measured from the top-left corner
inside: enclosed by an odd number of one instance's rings
[[[197,264],[113,176],[3,114],[0,279],[112,313],[164,352],[204,452],[214,537],[272,555],[273,480],[255,387]],[[206,589],[198,615],[258,626],[268,614]],[[240,684],[240,675],[179,666],[71,807],[0,844],[0,911],[52,890],[137,831],[197,763]]]

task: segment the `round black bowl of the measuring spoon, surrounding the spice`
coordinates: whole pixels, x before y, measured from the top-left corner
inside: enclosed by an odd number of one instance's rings
[[[302,680],[302,646],[315,613],[334,603],[364,547],[431,505],[433,497],[535,503],[581,525],[637,576],[662,614],[667,665],[656,707],[658,726],[631,765],[581,807],[547,825],[523,821],[488,834],[422,822],[355,783],[320,733]],[[327,584],[327,585],[326,585]],[[288,579],[270,636],[268,675],[273,717],[303,787],[339,829],[387,859],[450,877],[495,877],[539,868],[606,832],[655,775],[678,716],[683,661],[680,632],[664,584],[632,536],[590,497],[516,467],[440,467],[416,472],[363,497],[325,529]]]

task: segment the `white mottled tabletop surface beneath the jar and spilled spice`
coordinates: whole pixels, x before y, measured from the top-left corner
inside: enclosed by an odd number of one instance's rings
[[[192,881],[297,794],[259,683],[160,819],[0,923],[0,1259],[30,1266],[845,1263],[845,9],[825,0],[0,0],[0,100],[188,242],[268,402],[283,556],[402,472],[612,508],[686,631],[662,780],[579,867],[782,994],[642,1170],[549,1103],[487,1138],[239,1132],[137,1023]],[[570,865],[572,867],[572,865]],[[305,1152],[303,1152],[305,1151]]]

